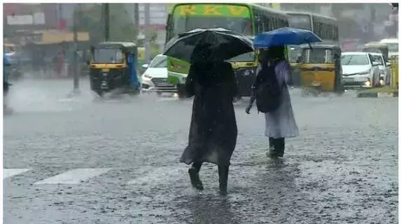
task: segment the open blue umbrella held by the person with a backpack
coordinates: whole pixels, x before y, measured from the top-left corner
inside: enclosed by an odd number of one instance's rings
[[[283,45],[302,45],[304,43],[322,42],[321,38],[306,29],[284,27],[264,32],[255,36],[253,47],[268,48]]]

